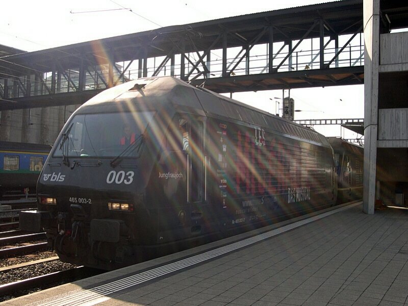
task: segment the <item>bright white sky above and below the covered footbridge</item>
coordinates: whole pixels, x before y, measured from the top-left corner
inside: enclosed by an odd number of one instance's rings
[[[20,0],[2,4],[0,44],[29,52],[198,21],[333,2],[329,0]],[[289,91],[285,90],[285,96]],[[233,98],[276,113],[282,90],[234,93]],[[363,85],[292,89],[295,120],[364,118]],[[281,98],[281,100],[276,98]],[[282,103],[280,104],[282,108]],[[282,114],[282,110],[280,111]],[[325,136],[360,138],[340,126],[318,126]]]

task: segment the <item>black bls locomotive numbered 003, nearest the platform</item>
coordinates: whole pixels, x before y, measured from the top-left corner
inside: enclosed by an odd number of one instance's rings
[[[63,261],[114,269],[333,206],[337,176],[317,132],[163,77],[75,111],[37,193],[25,229],[44,228]]]

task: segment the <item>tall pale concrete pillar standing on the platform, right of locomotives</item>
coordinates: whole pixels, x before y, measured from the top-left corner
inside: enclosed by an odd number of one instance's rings
[[[364,190],[363,211],[374,214],[378,130],[379,3],[364,0]]]

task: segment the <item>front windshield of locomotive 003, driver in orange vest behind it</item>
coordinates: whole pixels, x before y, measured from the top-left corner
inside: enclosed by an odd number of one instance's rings
[[[64,158],[133,156],[135,150],[127,150],[129,154],[126,155],[125,149],[140,140],[154,114],[142,111],[76,115],[65,127],[53,156]]]

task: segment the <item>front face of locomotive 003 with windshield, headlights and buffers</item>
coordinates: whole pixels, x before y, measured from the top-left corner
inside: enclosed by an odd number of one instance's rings
[[[155,111],[91,111],[74,114],[54,145],[38,181],[39,209],[50,215],[43,227],[62,259],[89,261],[91,253],[122,262],[135,252],[128,241],[152,243],[140,233],[146,223],[154,228],[143,202],[151,167],[143,150]]]

